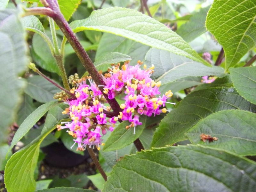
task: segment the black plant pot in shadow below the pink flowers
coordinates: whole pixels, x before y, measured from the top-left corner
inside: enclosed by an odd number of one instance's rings
[[[90,157],[87,150],[84,151],[84,155],[79,155],[68,150],[61,141],[59,143],[54,142],[41,149],[45,153],[44,160],[46,163],[56,167],[73,167]]]

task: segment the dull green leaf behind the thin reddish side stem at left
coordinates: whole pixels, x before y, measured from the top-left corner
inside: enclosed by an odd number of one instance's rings
[[[54,94],[60,91],[58,87],[39,75],[28,77],[28,86],[25,89],[25,93],[41,103],[54,100]]]

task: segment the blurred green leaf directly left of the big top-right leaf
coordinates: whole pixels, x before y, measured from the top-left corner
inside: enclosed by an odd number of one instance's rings
[[[210,6],[200,9],[199,12],[193,14],[190,20],[187,23],[178,28],[176,33],[181,36],[186,42],[194,40],[196,37],[202,35],[206,32],[204,26],[207,12],[209,11]]]

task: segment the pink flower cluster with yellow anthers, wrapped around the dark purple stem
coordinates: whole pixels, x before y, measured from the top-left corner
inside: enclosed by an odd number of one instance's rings
[[[144,65],[144,69],[141,69],[141,64],[142,62],[138,61],[136,66],[130,66],[129,62],[125,62],[121,69],[119,69],[120,64],[112,65],[108,73],[103,76],[106,83],[104,93],[108,95],[108,99],[125,93],[125,102],[120,105],[122,112],[118,117],[108,115],[111,108],[104,105],[107,100],[91,77],[75,82],[76,87],[70,92],[75,93],[76,99],[65,100],[69,107],[62,112],[68,114],[72,121],[62,122],[65,125],[58,125],[57,128],[69,129],[67,132],[74,137],[74,145],[78,143],[77,150],[84,150],[87,145],[100,149],[100,145],[103,145],[102,136],[107,130],[111,132],[114,130],[118,119],[131,122],[126,129],[133,127],[135,134],[135,127],[142,124],[139,121],[140,115],[156,116],[166,113],[166,108],[161,107],[165,106],[172,92],[166,92],[162,97],[157,98],[156,95],[160,94],[158,89],[161,82],[156,83],[150,78],[154,66],[146,69],[147,66]],[[87,84],[86,81],[89,83]]]

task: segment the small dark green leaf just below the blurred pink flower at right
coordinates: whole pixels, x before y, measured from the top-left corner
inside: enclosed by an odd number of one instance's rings
[[[227,88],[229,88],[232,86],[233,86],[233,83],[231,81],[231,77],[229,74],[226,74],[222,78],[217,78],[212,83],[203,83],[203,84],[197,86],[195,89],[192,90],[192,92],[202,90],[202,89],[211,88],[211,87],[227,87]]]

